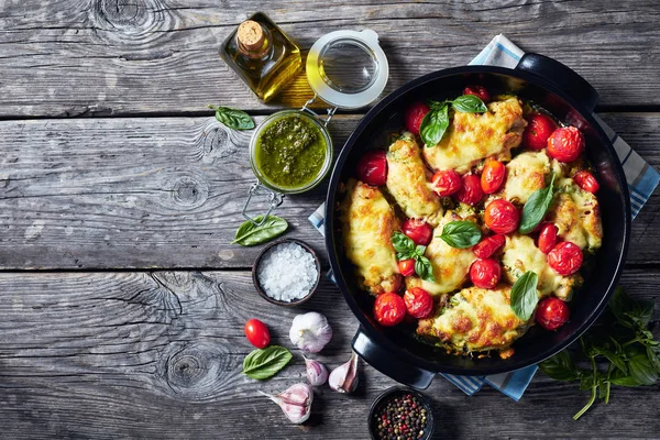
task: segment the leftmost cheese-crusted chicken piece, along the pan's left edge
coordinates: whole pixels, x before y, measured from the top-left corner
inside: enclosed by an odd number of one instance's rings
[[[345,191],[340,205],[343,243],[360,286],[374,295],[398,290],[392,234],[399,229],[399,220],[394,209],[378,188],[355,179],[349,180]]]

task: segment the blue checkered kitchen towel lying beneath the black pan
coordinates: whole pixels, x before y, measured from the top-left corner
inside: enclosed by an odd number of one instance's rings
[[[512,43],[506,36],[497,35],[470,64],[487,64],[514,68],[525,52]],[[594,114],[607,136],[614,143],[614,147],[624,165],[628,188],[630,190],[630,202],[632,206],[632,218],[637,216],[644,204],[651,197],[660,182],[660,174],[639,154],[632,151],[623,139],[620,139],[609,127]],[[310,217],[309,221],[323,233],[323,216],[326,207],[321,205]],[[332,274],[330,274],[332,276]],[[536,365],[517,370],[509,373],[494,374],[491,376],[458,376],[453,374],[441,374],[449,382],[461,388],[465,394],[473,395],[484,384],[506,394],[515,400],[519,400],[525,389],[531,382],[538,367]]]

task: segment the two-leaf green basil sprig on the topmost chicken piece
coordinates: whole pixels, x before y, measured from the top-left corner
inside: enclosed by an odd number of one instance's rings
[[[461,113],[483,113],[488,108],[474,95],[461,95],[454,100],[429,101],[431,110],[421,120],[419,135],[426,146],[437,145],[449,128],[449,106]]]

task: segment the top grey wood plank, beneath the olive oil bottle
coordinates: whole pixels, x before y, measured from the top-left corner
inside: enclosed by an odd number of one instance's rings
[[[338,29],[375,30],[391,63],[386,91],[464,65],[505,33],[573,67],[603,105],[660,103],[660,11],[652,0],[32,0],[0,3],[0,116],[199,112],[209,102],[265,109],[218,56],[231,30],[257,10],[304,50]],[[310,96],[300,76],[275,106],[299,107]]]

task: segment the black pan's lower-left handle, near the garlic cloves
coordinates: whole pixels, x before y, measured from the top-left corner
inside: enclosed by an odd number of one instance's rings
[[[404,362],[400,356],[375,343],[361,327],[353,338],[353,350],[371,366],[398,383],[417,389],[429,387],[436,373]]]

